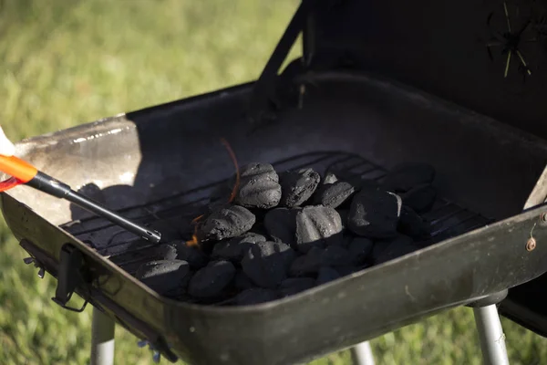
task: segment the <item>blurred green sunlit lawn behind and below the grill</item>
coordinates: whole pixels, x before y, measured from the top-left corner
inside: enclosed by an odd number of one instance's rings
[[[297,0],[0,0],[0,123],[14,141],[257,78]],[[294,49],[292,57],[298,55]],[[50,297],[0,225],[0,363],[85,364],[91,308]],[[547,362],[547,340],[503,319],[512,364]],[[121,328],[116,363],[151,364]],[[372,341],[377,364],[480,364],[469,308]],[[166,361],[162,361],[165,363]],[[314,364],[349,364],[347,351]]]

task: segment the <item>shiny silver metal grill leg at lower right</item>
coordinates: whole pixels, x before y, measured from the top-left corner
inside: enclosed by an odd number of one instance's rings
[[[480,350],[485,365],[509,365],[505,336],[495,304],[473,308],[479,331]]]

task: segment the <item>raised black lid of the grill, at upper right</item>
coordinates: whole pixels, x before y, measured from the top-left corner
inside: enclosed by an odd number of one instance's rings
[[[299,9],[307,16],[297,13],[293,19],[293,26],[302,22],[304,30],[304,62],[299,65],[304,72],[335,68],[375,72],[547,139],[545,3],[309,3],[304,0]],[[281,46],[283,39],[277,51]],[[274,58],[275,52],[271,61]],[[547,197],[540,184],[534,204]],[[545,285],[547,275],[510,289],[501,313],[547,336]]]

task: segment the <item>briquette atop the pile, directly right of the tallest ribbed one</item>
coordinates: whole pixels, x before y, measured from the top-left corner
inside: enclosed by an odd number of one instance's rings
[[[315,193],[320,179],[319,174],[313,169],[284,172],[280,175],[282,189],[280,205],[287,208],[302,205]]]

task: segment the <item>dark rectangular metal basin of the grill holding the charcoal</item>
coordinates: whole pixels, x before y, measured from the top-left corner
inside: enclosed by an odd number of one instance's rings
[[[545,166],[544,141],[384,78],[325,72],[308,81],[315,87],[301,108],[253,134],[243,118],[247,84],[36,137],[18,154],[73,187],[95,183],[91,195],[112,209],[145,223],[168,219],[181,232],[233,172],[222,137],[241,164],[378,177],[398,162],[428,162],[450,202],[429,217],[437,243],[294,297],[226,308],[159,297],[130,276],[135,237],[26,186],[1,195],[6,222],[53,276],[62,247],[73,245],[85,277],[78,294],[193,364],[312,360],[544,273],[547,248],[525,248],[531,235],[547,239],[544,208],[521,213]]]

